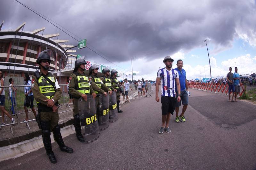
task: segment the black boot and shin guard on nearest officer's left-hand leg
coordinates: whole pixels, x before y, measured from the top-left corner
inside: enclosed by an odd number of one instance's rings
[[[48,155],[51,163],[57,163],[57,160],[52,152],[52,143],[51,143],[51,132],[50,132],[50,123],[41,121],[41,128],[42,128],[42,137],[44,148],[46,150],[46,154]]]

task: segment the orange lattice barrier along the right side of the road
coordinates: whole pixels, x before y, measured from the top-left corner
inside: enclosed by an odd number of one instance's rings
[[[239,95],[242,96],[244,93],[244,86],[242,85],[242,83],[240,83],[240,87],[242,88],[242,91],[240,90]],[[225,92],[226,94],[228,94],[228,84],[224,85],[223,83],[212,84],[212,82],[211,83],[190,82],[188,83],[188,88],[197,89],[197,90],[202,89],[204,91],[208,90],[215,93]]]

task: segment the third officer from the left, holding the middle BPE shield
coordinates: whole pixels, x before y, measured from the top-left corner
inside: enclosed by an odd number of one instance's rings
[[[97,76],[99,68],[96,65],[92,65],[89,68],[89,81],[92,84],[92,88],[97,94],[95,98],[95,105],[96,107],[99,104],[99,95],[100,93],[107,96],[107,94],[112,94],[112,91],[101,81],[101,79]],[[108,92],[108,93],[107,93]]]

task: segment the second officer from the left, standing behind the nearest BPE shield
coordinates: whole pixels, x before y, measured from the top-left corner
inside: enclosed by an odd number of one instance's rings
[[[86,67],[86,62],[84,59],[79,58],[75,62],[75,69],[69,77],[69,87],[68,91],[74,97],[74,127],[76,130],[76,137],[80,142],[85,142],[84,137],[81,133],[80,116],[78,113],[78,106],[76,105],[77,100],[82,97],[85,101],[87,100],[87,95],[92,95],[93,98],[96,97],[96,93],[92,89],[88,77],[84,73]]]

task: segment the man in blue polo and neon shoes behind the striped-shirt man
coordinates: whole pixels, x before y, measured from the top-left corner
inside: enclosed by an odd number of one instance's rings
[[[175,118],[175,122],[180,122],[180,120],[181,120],[181,122],[185,122],[186,121],[186,119],[184,117],[184,113],[185,113],[185,111],[186,111],[186,109],[188,107],[188,93],[187,93],[187,91],[188,91],[188,82],[187,82],[187,78],[186,78],[186,71],[184,69],[182,69],[182,67],[183,67],[183,61],[182,60],[177,60],[177,68],[175,68],[174,70],[178,71],[178,73],[179,73],[181,100],[176,103],[176,108],[175,108],[176,118]],[[175,89],[177,89],[177,88],[175,88]],[[181,105],[181,101],[182,101],[183,108],[182,108],[182,112],[181,112],[180,116],[178,116],[178,114],[179,114],[179,107]]]

